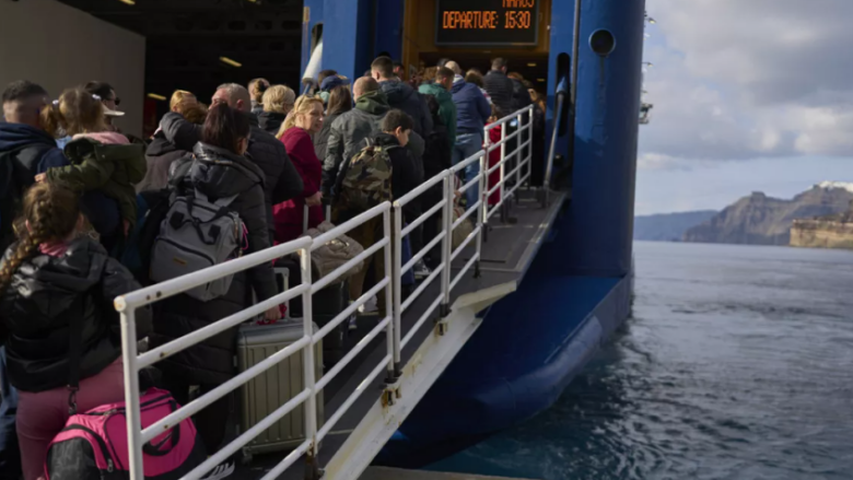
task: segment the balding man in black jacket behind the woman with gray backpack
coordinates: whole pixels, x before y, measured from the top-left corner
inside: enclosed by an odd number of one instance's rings
[[[288,157],[284,144],[258,127],[257,117],[250,115],[252,98],[243,85],[236,83],[220,85],[217,93],[213,94],[211,104],[221,103],[245,113],[252,121],[252,138],[246,156],[260,167],[266,177],[264,194],[268,207],[267,226],[270,229],[270,238],[272,238],[276,232],[276,223],[272,221],[272,206],[302,194],[304,188],[302,177]],[[160,122],[160,128],[170,143],[180,150],[192,151],[201,138],[201,126],[192,125],[175,113],[166,114]]]

